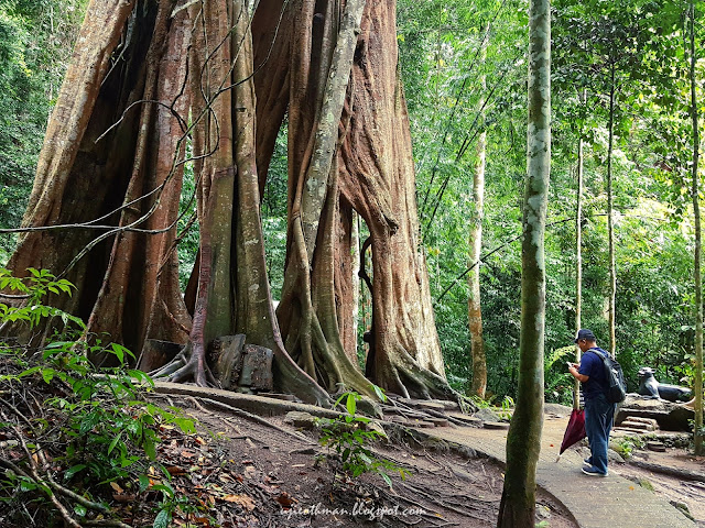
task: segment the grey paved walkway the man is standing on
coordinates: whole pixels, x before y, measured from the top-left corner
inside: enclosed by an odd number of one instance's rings
[[[551,424],[549,424],[551,422]],[[581,472],[583,458],[568,449],[558,462],[567,418],[546,417],[536,469],[536,484],[573,514],[581,528],[694,528],[696,525],[668,501],[611,473],[607,477]],[[425,429],[424,432],[429,432]],[[433,436],[462,443],[506,462],[506,430],[434,428]]]

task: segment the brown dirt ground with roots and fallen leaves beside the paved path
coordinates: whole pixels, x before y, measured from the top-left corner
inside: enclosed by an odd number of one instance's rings
[[[174,526],[210,526],[208,516],[225,528],[496,526],[503,474],[490,460],[397,438],[376,447],[379,459],[410,473],[402,480],[390,472],[389,487],[379,475],[351,480],[336,472],[317,432],[296,436],[282,417],[260,421],[199,407],[193,398],[173,403],[200,421],[202,432],[196,439],[166,442],[162,454],[181,466],[200,461],[174,481],[183,493],[210,506],[207,516],[176,512]],[[562,505],[542,493],[536,522],[576,526]]]

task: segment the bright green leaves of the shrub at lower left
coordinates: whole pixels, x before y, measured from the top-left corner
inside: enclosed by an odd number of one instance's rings
[[[109,483],[120,482],[121,486],[137,488],[139,482],[143,492],[150,482],[163,481],[160,485],[164,487],[164,501],[158,518],[170,521],[178,501],[173,491],[166,493],[170,474],[156,461],[159,428],[173,425],[193,433],[193,421],[176,409],[165,410],[143,400],[143,392],[150,389],[153,382],[143,372],[127,366],[128,360],[134,359],[130,350],[118,343],[89,344],[84,339],[75,339],[75,329],[85,328],[83,322],[42,304],[48,293],[70,295],[74,289],[70,283],[55,279],[45,270],[30,270],[24,279],[0,270],[0,285],[28,300],[22,307],[0,304],[0,324],[25,321],[32,327],[45,317],[59,317],[66,323],[62,334],[56,334],[31,356],[21,346],[0,343],[3,371],[0,389],[9,395],[7,402],[13,403],[0,406],[4,407],[2,416],[10,417],[6,426],[11,426],[22,444],[40,452],[40,457],[51,450],[57,482],[90,501],[109,494],[110,487],[105,487]],[[119,366],[96,367],[88,361],[95,353],[115,356]],[[33,402],[37,405],[42,402],[40,413]],[[28,460],[20,463],[32,464]],[[161,474],[155,473],[155,469]],[[35,499],[35,492],[42,491],[48,506],[47,498],[54,493],[48,488],[51,479],[43,476],[39,469],[26,475],[6,472],[6,479],[0,482],[1,499],[24,501],[26,494]],[[151,490],[161,488],[152,486]],[[78,517],[86,515],[85,505],[80,503],[69,509]]]

